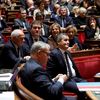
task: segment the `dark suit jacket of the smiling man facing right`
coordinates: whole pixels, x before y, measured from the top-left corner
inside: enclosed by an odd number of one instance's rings
[[[76,72],[76,76],[81,77],[71,57],[70,52],[68,52],[68,56],[72,61],[73,68],[75,69]],[[60,73],[67,74],[67,66],[65,64],[63,54],[59,48],[55,48],[54,50],[51,51],[50,58],[47,63],[47,72],[51,75],[51,77],[55,77],[57,74]]]

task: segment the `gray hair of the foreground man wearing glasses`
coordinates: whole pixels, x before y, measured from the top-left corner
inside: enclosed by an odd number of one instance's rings
[[[45,42],[42,42],[42,41],[37,41],[37,42],[33,43],[30,53],[34,54],[34,53],[38,52],[39,50],[43,50],[46,48],[50,49],[50,45]]]

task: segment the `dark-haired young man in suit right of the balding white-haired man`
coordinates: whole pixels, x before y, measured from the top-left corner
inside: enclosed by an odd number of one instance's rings
[[[25,47],[27,48],[26,51],[29,53],[32,44],[36,41],[43,41],[47,42],[47,38],[41,36],[41,22],[35,20],[31,25],[31,30],[29,34],[25,35]]]

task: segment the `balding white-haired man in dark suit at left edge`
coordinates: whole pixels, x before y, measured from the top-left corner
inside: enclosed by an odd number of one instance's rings
[[[0,56],[0,68],[13,69],[18,61],[25,62],[22,59],[25,56],[22,48],[25,35],[22,30],[16,29],[12,31],[10,40],[4,45],[2,54]]]

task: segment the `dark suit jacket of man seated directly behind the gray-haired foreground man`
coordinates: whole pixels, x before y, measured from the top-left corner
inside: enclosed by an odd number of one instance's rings
[[[47,38],[40,36],[39,41],[47,42]],[[34,40],[32,38],[31,33],[25,34],[25,42],[23,46],[25,47],[24,50],[26,49],[25,52],[27,52],[27,54],[29,54],[30,48],[33,43],[34,43]]]

